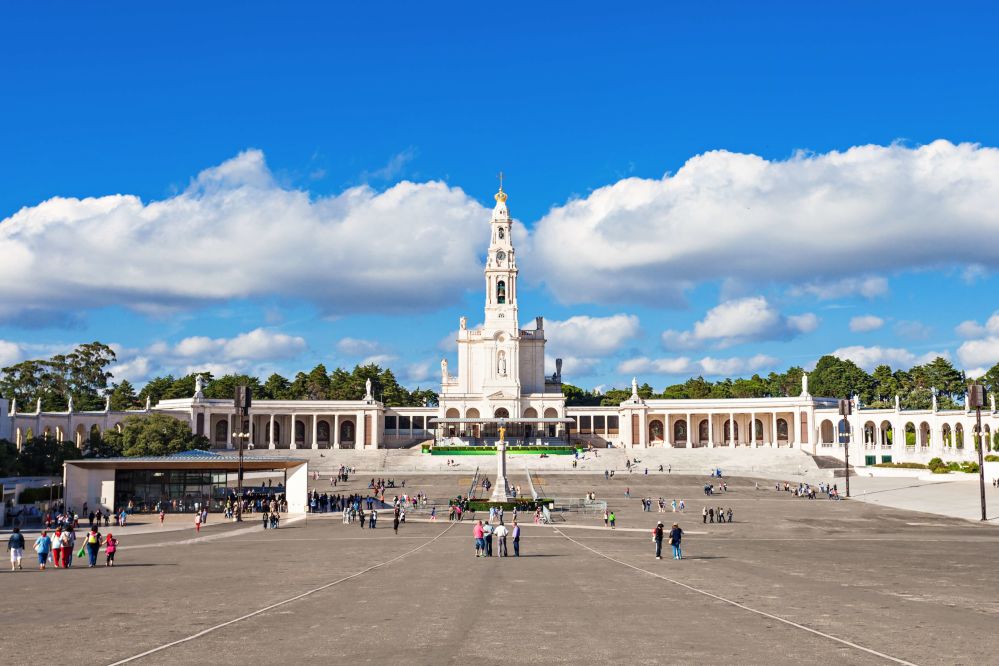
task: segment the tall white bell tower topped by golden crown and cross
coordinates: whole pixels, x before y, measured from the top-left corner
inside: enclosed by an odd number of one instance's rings
[[[491,335],[505,331],[516,337],[520,330],[517,321],[517,257],[511,238],[513,222],[506,207],[502,173],[499,191],[494,198],[496,206],[493,208],[486,256],[486,318],[483,332]]]

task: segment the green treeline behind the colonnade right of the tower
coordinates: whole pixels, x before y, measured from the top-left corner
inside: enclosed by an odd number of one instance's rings
[[[667,386],[661,392],[656,392],[649,384],[642,384],[638,394],[644,399],[790,397],[801,394],[802,374],[802,368],[792,367],[783,373],[771,372],[766,377],[753,375],[715,382],[691,377],[682,384]],[[999,363],[978,380],[985,385],[986,391],[999,392]],[[893,407],[898,395],[903,409],[928,409],[933,403],[935,389],[938,407],[955,409],[964,404],[969,383],[971,380],[964,372],[941,357],[908,370],[892,370],[888,365],[879,365],[874,372],[867,373],[853,361],[823,356],[808,373],[808,392],[812,395],[823,398],[856,395],[861,404],[869,407]],[[571,384],[563,384],[562,392],[566,404],[579,406],[618,405],[631,397],[631,389],[596,393]]]

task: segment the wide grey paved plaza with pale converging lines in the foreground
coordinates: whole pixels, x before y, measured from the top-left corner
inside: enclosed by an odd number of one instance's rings
[[[524,557],[506,560],[475,559],[471,525],[441,521],[399,535],[330,517],[132,535],[114,570],[0,574],[4,663],[36,662],[39,646],[88,627],[74,663],[151,650],[129,663],[996,661],[993,525],[746,479],[710,500],[736,522],[704,525],[700,478],[540,476],[558,491],[547,494],[607,499],[620,528],[528,525]],[[457,484],[420,477],[407,490]],[[683,561],[652,557],[648,530],[674,514],[642,512],[643,494],[686,500]]]

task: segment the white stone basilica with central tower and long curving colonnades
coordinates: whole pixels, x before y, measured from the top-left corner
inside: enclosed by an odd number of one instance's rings
[[[517,252],[502,186],[489,220],[482,325],[459,321],[457,368],[441,361],[437,407],[390,407],[372,395],[361,400],[257,400],[237,420],[231,400],[204,397],[162,400],[133,411],[28,411],[0,400],[0,438],[21,446],[32,436],[83,446],[92,436],[120,428],[135,414],[184,420],[214,447],[246,442],[253,449],[380,449],[481,446],[495,443],[500,428],[516,445],[623,448],[790,448],[842,459],[850,447],[856,466],[884,462],[976,459],[975,414],[965,409],[903,411],[854,405],[845,420],[838,396],[813,396],[808,378],[799,395],[784,398],[646,400],[632,380],[631,397],[606,407],[567,407],[562,362],[545,374],[544,318],[521,328],[517,303]],[[571,372],[571,368],[568,369]],[[995,397],[982,413],[986,441],[999,427]]]

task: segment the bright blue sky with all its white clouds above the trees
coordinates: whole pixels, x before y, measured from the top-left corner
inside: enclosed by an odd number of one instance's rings
[[[432,385],[502,170],[569,381],[987,368],[997,11],[814,4],[6,7],[0,362]]]

